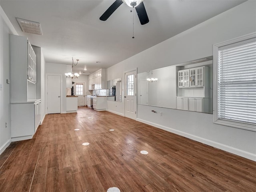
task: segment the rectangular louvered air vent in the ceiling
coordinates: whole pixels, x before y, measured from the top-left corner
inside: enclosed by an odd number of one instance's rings
[[[23,32],[42,35],[40,23],[16,18]]]

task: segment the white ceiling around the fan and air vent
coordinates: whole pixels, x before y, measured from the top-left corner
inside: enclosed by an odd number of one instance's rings
[[[108,68],[246,0],[144,0],[149,23],[140,25],[122,4],[106,21],[100,16],[115,0],[0,0],[19,35],[43,48],[48,63],[71,65],[88,75]],[[16,18],[40,22],[42,36],[22,32]],[[97,62],[97,63],[96,63]],[[99,63],[98,63],[99,62]]]

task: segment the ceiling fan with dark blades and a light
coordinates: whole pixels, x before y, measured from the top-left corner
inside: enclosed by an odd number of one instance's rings
[[[100,16],[100,20],[106,21],[112,13],[122,4],[125,3],[130,7],[136,9],[140,24],[144,25],[149,22],[148,15],[143,4],[143,0],[116,0],[105,12]]]

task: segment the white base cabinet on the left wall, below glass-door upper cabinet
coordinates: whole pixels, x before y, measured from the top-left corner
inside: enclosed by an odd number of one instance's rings
[[[12,141],[31,139],[36,132],[41,117],[41,100],[11,103]]]

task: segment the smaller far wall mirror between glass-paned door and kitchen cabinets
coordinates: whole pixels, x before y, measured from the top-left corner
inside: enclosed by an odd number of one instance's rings
[[[122,102],[122,78],[107,81],[107,100]]]

